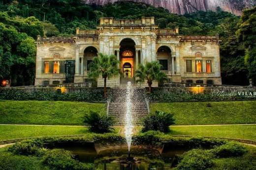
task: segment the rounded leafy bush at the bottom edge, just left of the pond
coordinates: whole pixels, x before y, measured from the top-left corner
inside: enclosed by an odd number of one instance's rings
[[[93,164],[81,163],[74,159],[70,151],[63,149],[53,149],[43,157],[43,164],[51,170],[93,170]]]

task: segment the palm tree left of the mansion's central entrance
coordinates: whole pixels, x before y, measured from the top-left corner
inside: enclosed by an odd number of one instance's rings
[[[117,57],[115,55],[104,55],[99,53],[90,64],[89,77],[97,79],[100,75],[104,78],[104,97],[107,97],[107,78],[119,73]]]

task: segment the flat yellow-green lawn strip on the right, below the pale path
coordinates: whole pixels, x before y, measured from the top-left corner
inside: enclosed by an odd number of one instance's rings
[[[170,134],[256,140],[255,132],[256,125],[171,126]]]

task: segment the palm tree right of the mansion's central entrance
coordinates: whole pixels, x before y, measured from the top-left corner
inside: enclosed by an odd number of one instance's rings
[[[137,82],[145,82],[147,80],[149,86],[149,93],[152,91],[152,83],[157,80],[159,83],[167,80],[165,73],[161,72],[160,63],[158,61],[146,62],[145,66],[140,64],[135,75],[138,77]]]

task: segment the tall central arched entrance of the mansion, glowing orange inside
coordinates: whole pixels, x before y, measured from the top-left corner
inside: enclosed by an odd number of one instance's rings
[[[120,43],[120,69],[123,77],[133,77],[135,65],[135,43],[125,38]]]

